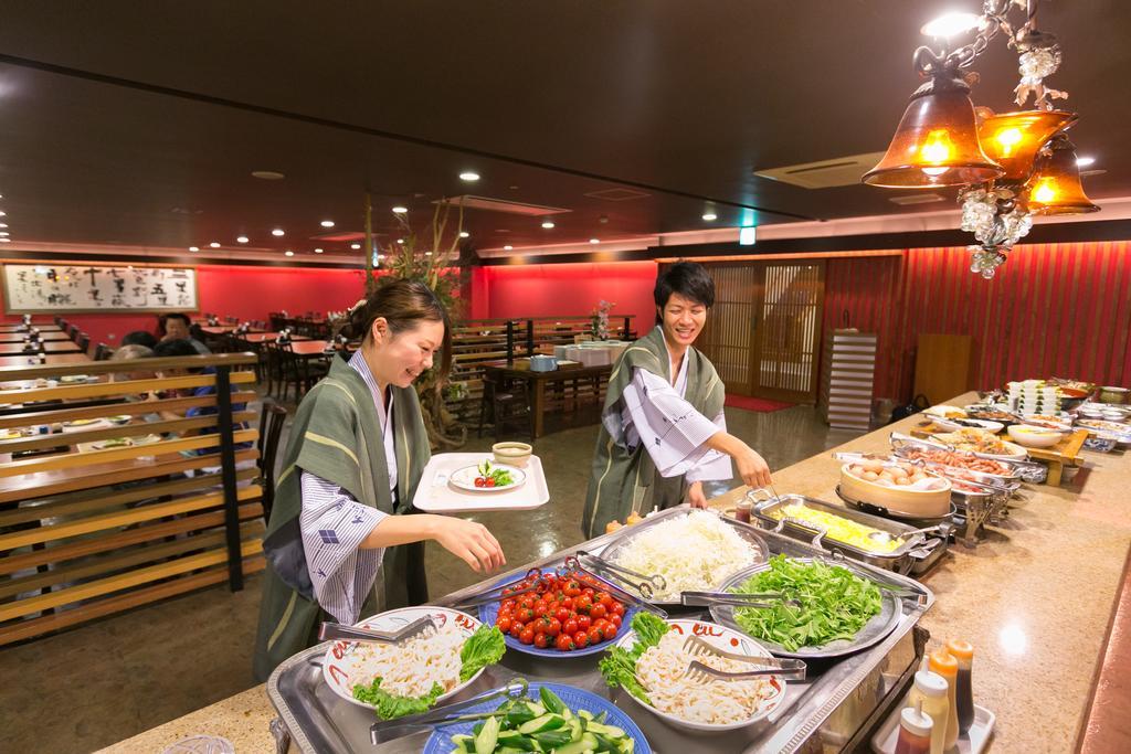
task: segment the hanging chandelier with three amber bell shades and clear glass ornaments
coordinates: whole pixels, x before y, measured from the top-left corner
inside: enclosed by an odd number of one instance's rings
[[[1076,147],[1064,133],[1077,115],[1052,104],[1068,94],[1044,84],[1060,67],[1061,49],[1056,37],[1037,29],[1037,2],[984,0],[982,16],[966,29],[976,29],[972,42],[941,53],[915,51],[915,70],[925,83],[912,95],[883,159],[863,177],[895,189],[961,187],[961,228],[977,241],[968,246],[970,271],[986,279],[1029,232],[1034,215],[1099,210],[1083,193]],[[1016,28],[1009,18],[1015,8],[1025,10]],[[1018,53],[1018,112],[976,109],[969,97],[977,73],[967,69],[999,34]],[[1030,96],[1031,109],[1024,110]]]

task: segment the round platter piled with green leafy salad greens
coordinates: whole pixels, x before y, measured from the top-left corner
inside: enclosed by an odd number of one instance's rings
[[[844,657],[882,641],[899,623],[900,599],[851,562],[777,555],[727,578],[719,591],[778,592],[770,608],[711,605],[711,616],[778,657]]]

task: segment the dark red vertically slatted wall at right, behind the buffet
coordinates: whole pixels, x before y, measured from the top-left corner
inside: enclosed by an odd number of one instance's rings
[[[829,260],[824,327],[880,336],[875,395],[907,399],[920,333],[970,335],[977,384],[1063,376],[1131,382],[1131,243],[1017,246],[992,280],[965,248]]]

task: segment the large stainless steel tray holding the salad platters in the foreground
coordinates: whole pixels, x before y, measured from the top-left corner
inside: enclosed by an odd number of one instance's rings
[[[665,517],[677,511],[679,509],[673,509],[658,515]],[[786,553],[795,557],[821,555],[818,549],[772,531],[762,532],[762,537],[770,554]],[[612,535],[605,535],[582,547],[599,554],[612,539]],[[510,573],[493,575],[449,597],[476,593],[501,578],[521,575],[530,567],[559,561],[572,549],[554,553]],[[653,748],[659,752],[827,754],[851,749],[863,739],[863,734],[880,721],[881,713],[904,693],[923,656],[925,643],[924,632],[916,630],[916,624],[934,604],[934,593],[916,581],[864,564],[860,567],[917,591],[922,599],[900,600],[896,627],[875,645],[840,660],[811,662],[805,681],[787,684],[782,707],[767,720],[749,728],[711,736],[672,728],[625,699],[623,692],[605,686],[597,670],[598,657],[550,660],[509,652],[501,665],[486,668],[478,681],[460,693],[459,699],[523,675],[530,679],[579,686],[612,699],[632,717]],[[267,695],[279,716],[273,723],[273,730],[277,730],[280,738],[292,740],[305,754],[420,752],[428,734],[416,734],[380,746],[370,744],[369,726],[373,718],[360,707],[336,696],[322,682],[321,669],[311,664],[320,661],[326,649],[326,644],[320,644],[302,651],[271,674],[267,682]],[[285,751],[284,743],[279,752]]]

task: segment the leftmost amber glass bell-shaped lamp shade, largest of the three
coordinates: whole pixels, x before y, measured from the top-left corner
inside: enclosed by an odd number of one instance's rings
[[[896,136],[864,183],[892,189],[929,189],[982,183],[1004,171],[978,144],[969,89],[944,79],[912,96]]]

